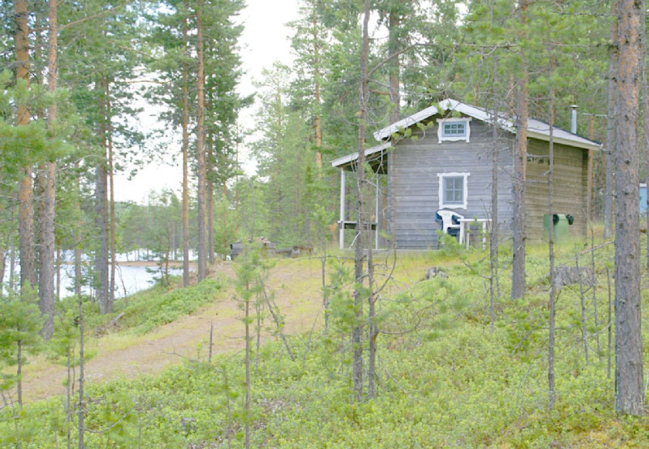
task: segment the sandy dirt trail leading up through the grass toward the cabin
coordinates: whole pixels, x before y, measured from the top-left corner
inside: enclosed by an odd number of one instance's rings
[[[230,263],[218,263],[213,271],[232,278]],[[275,302],[286,321],[285,332],[293,333],[312,328],[321,311],[319,271],[315,265],[280,261],[271,269],[269,285],[276,292]],[[158,372],[169,365],[181,363],[183,358],[196,358],[200,343],[201,354],[206,354],[210,319],[214,322],[214,351],[227,352],[243,346],[243,329],[237,303],[232,299],[232,288],[219,299],[193,315],[160,326],[137,343],[123,349],[106,349],[110,335],[92,345],[96,356],[86,362],[88,383],[104,382],[119,376],[132,378],[139,374]],[[321,319],[321,317],[318,317]],[[64,367],[43,361],[42,369],[30,370],[23,378],[23,396],[26,401],[44,399],[64,393]]]

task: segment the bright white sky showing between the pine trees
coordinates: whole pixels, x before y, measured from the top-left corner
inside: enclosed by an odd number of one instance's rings
[[[241,59],[243,71],[239,93],[249,95],[254,92],[252,81],[260,79],[262,69],[270,67],[276,60],[290,64],[293,60],[288,36],[291,30],[286,23],[297,18],[297,0],[247,0],[247,7],[241,13],[241,21],[245,25],[241,36]],[[243,110],[239,115],[241,127],[252,128],[252,117],[256,106]],[[154,117],[155,111],[145,106],[144,112],[138,117],[143,131],[159,128]],[[255,169],[254,161],[247,157],[245,144],[242,145],[239,162],[248,173]],[[130,179],[125,173],[115,178],[115,199],[117,201],[143,202],[150,191],[164,188],[180,191],[182,188],[182,172],[180,160],[173,164],[172,154],[179,154],[180,147],[172,143],[168,147],[169,154],[164,155],[167,164],[151,163],[143,167],[138,175]]]

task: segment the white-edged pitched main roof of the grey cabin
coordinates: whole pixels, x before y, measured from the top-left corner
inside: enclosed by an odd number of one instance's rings
[[[472,106],[471,104],[461,103],[454,99],[446,99],[440,101],[437,104],[434,104],[433,106],[429,106],[424,110],[416,112],[415,114],[412,114],[404,119],[401,119],[393,123],[392,125],[389,125],[381,130],[374,132],[374,138],[376,140],[385,140],[390,136],[392,136],[392,134],[394,134],[395,132],[411,127],[421,122],[422,120],[427,119],[428,117],[432,117],[433,115],[440,114],[441,112],[452,112],[452,111],[460,112],[461,114],[464,115],[469,115],[469,117],[473,117],[480,121],[484,121],[485,123],[491,123],[493,121],[492,114],[483,108],[479,108],[478,106]],[[504,114],[499,114],[499,115],[500,116],[498,117],[498,125],[500,125],[500,128],[507,130],[513,134],[516,134],[515,123],[513,123],[511,117],[508,117]],[[529,117],[528,136],[533,139],[549,141],[550,125],[548,125],[548,123],[545,123],[544,121],[535,119],[533,117]],[[554,130],[552,132],[552,137],[556,143],[562,143],[563,145],[570,145],[571,147],[593,149],[593,150],[599,150],[602,147],[601,143],[599,143],[598,141],[583,138],[582,136],[578,136],[577,134],[572,134],[572,132],[568,132],[566,130],[557,127],[554,127]]]

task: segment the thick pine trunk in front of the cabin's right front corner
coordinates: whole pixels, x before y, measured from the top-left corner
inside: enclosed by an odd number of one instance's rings
[[[520,0],[520,23],[527,26],[528,0]],[[522,57],[522,75],[518,80],[517,132],[514,152],[513,179],[513,262],[511,269],[511,298],[522,297],[525,291],[525,180],[527,169],[527,122],[528,122],[528,67]]]

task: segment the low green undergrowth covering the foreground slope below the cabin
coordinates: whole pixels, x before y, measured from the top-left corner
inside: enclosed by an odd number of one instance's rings
[[[597,256],[599,312],[604,322],[604,264],[611,253],[612,247],[605,247]],[[559,261],[569,262],[573,254],[574,247],[559,249]],[[467,267],[448,254],[400,257],[397,278],[402,281],[417,278],[430,265],[445,267],[450,276],[420,282],[402,293],[395,293],[397,287],[404,287],[398,284],[386,293],[382,328],[395,334],[379,337],[380,396],[376,400],[363,404],[351,400],[350,354],[344,337],[349,324],[344,321],[338,320],[328,337],[291,337],[299,355],[295,363],[278,343],[263,345],[260,374],[253,375],[253,446],[646,446],[649,420],[617,419],[612,411],[606,329],[594,327],[592,293],[587,292],[586,298],[591,334],[588,365],[580,341],[578,287],[563,289],[557,302],[557,407],[549,413],[544,250],[532,250],[529,257],[532,288],[524,300],[508,300],[508,273],[503,270],[493,334],[485,280],[478,276],[485,273],[485,266],[471,265],[476,260],[478,256],[469,258]],[[584,258],[582,263],[586,262]],[[295,267],[304,269],[305,263]],[[643,291],[645,304],[648,299]],[[413,323],[419,324],[415,330],[397,334]],[[649,327],[643,324],[646,332]],[[597,330],[599,354],[593,336]],[[239,447],[244,419],[242,376],[239,352],[219,356],[211,366],[195,361],[136,381],[93,385],[88,393],[88,425],[94,430],[114,426],[88,435],[89,444],[136,447],[143,441],[147,447],[219,447],[230,435],[234,447]],[[230,425],[227,400],[232,409]],[[64,443],[60,398],[31,404],[24,413],[22,439],[32,446],[23,447]],[[10,444],[12,422],[6,409],[0,415],[0,435],[5,438],[0,442]],[[47,420],[36,419],[43,416]]]

